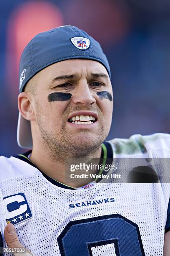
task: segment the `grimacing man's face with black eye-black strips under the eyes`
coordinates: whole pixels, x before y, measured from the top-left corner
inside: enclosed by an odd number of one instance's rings
[[[36,124],[48,147],[92,150],[107,137],[112,120],[112,86],[97,61],[69,59],[39,72]]]

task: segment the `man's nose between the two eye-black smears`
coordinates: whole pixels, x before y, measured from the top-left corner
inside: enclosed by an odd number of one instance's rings
[[[80,83],[77,85],[74,95],[72,97],[74,104],[82,104],[84,106],[95,103],[95,98],[92,96],[89,85],[87,83]]]

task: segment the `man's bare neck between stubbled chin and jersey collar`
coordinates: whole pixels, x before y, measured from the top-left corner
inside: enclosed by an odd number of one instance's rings
[[[56,158],[54,158],[54,156],[51,156],[48,151],[38,151],[33,147],[30,160],[33,164],[35,164],[35,166],[37,166],[38,169],[40,169],[43,173],[52,179],[55,179],[57,182],[73,188],[77,188],[92,182],[94,179],[71,179],[70,175],[72,172],[70,171],[70,162],[73,163],[75,158],[78,160],[78,162],[90,161],[91,159],[99,160],[101,151],[102,147],[100,145],[98,148],[95,148],[89,151],[87,154],[84,154],[81,158],[75,157],[75,154],[70,155],[70,151],[69,154],[67,154],[67,157],[63,157],[62,155],[62,157],[56,156]],[[98,172],[98,170],[96,172]]]

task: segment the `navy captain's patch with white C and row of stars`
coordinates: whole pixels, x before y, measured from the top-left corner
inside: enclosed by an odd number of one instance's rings
[[[23,193],[4,197],[7,224],[18,224],[32,217],[26,197]]]

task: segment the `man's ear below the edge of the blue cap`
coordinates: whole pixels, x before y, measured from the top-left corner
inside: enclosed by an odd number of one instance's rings
[[[35,120],[33,103],[33,95],[30,92],[21,92],[18,95],[18,109],[23,118],[29,121]]]

